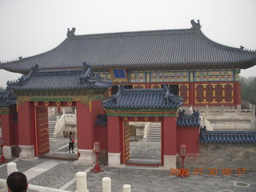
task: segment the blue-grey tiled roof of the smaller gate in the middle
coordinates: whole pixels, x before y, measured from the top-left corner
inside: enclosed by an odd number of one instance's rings
[[[182,106],[182,98],[170,93],[170,88],[124,89],[102,101],[107,109],[174,109]]]

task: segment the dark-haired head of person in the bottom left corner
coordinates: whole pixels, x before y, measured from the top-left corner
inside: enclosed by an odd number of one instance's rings
[[[21,172],[9,174],[6,180],[8,192],[25,192],[28,188],[26,175]]]

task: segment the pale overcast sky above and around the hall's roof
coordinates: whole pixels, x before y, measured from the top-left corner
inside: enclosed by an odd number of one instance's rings
[[[0,61],[41,54],[75,34],[190,28],[200,19],[206,37],[256,50],[255,0],[0,0]],[[256,66],[242,70],[256,76]],[[18,78],[0,70],[0,86]]]

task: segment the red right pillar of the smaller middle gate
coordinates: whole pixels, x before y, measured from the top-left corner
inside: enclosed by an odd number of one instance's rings
[[[163,154],[176,155],[177,128],[175,117],[163,118]]]

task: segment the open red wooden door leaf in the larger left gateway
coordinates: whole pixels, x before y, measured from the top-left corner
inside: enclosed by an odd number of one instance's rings
[[[36,107],[36,156],[50,151],[48,132],[48,108]]]

